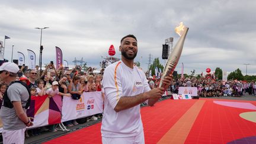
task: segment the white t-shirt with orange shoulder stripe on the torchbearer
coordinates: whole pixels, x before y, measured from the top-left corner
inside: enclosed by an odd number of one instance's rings
[[[142,132],[140,104],[118,113],[114,107],[120,97],[132,97],[151,90],[143,71],[137,66],[131,69],[121,61],[115,62],[104,71],[103,88],[105,100],[101,136],[130,137]]]

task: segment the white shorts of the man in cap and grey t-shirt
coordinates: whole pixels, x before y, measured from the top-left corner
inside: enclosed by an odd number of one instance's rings
[[[3,130],[2,131],[3,142],[24,144],[25,140],[25,128],[20,130]]]

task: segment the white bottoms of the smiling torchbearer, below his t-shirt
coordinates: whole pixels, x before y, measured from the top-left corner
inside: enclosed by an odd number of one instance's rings
[[[137,136],[131,136],[131,137],[102,137],[103,144],[144,144],[144,132],[142,131]]]

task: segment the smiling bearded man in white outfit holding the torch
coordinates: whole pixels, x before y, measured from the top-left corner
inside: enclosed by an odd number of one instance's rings
[[[121,60],[104,71],[104,114],[101,125],[103,143],[145,143],[140,116],[140,103],[154,105],[165,88],[149,88],[145,73],[134,65],[137,39],[127,35],[119,47]],[[171,76],[163,79],[166,87]]]

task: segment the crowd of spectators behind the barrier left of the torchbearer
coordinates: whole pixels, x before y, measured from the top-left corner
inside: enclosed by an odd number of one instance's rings
[[[25,69],[25,66],[21,66],[19,81],[25,82],[30,88],[31,96],[40,97],[42,95],[48,95],[48,97],[54,97],[56,94],[62,96],[72,97],[73,99],[79,99],[79,95],[83,92],[101,91],[101,80],[103,78],[104,69],[101,69],[100,73],[93,73],[94,68],[89,67],[88,71],[82,71],[81,66],[76,66],[73,69],[65,69],[60,66],[59,69],[55,68],[53,63],[49,63],[45,66],[44,71],[39,70],[39,66],[36,69]],[[41,75],[40,75],[41,74]],[[0,103],[2,103],[2,94],[7,89],[7,85],[0,81]],[[104,94],[103,100],[104,100]],[[102,117],[102,114],[96,114],[85,118],[85,121],[97,120]],[[77,125],[76,120],[66,121],[64,123],[67,127]],[[36,128],[26,131],[25,136],[40,135],[43,130],[49,130],[51,132],[57,132],[57,124]]]

